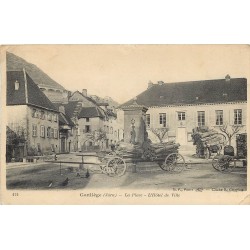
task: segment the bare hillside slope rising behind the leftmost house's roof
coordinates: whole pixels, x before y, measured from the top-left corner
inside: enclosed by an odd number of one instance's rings
[[[51,79],[36,65],[25,61],[23,58],[16,56],[10,52],[6,53],[6,67],[7,71],[21,71],[25,68],[26,72],[30,75],[33,81],[39,87],[51,87],[55,89],[65,90],[63,86]]]

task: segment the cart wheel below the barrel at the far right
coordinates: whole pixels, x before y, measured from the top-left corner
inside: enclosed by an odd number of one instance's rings
[[[229,155],[215,156],[212,161],[214,169],[221,173],[229,173],[235,168],[234,160]]]

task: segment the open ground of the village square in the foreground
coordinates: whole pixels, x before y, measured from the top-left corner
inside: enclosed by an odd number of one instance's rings
[[[72,158],[72,156],[68,156]],[[73,156],[75,159],[75,157]],[[62,159],[62,158],[61,158]],[[79,158],[77,158],[79,159]],[[89,166],[90,176],[86,178],[86,169],[77,170],[78,165],[62,166],[61,174],[58,164],[29,164],[7,167],[7,187],[11,189],[239,189],[246,190],[246,168],[236,168],[232,173],[220,173],[210,163],[192,164],[178,174],[161,170],[154,163],[139,163],[137,172],[132,173],[131,165],[121,177],[109,177],[102,174],[99,166]],[[77,174],[77,172],[80,173]],[[69,182],[63,186],[63,181]],[[53,183],[50,186],[50,183]],[[49,187],[50,186],[50,187]]]

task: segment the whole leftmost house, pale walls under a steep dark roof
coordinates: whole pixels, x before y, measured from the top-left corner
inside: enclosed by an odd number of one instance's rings
[[[59,112],[32,78],[23,71],[7,71],[7,126],[22,135],[12,157],[59,152]]]

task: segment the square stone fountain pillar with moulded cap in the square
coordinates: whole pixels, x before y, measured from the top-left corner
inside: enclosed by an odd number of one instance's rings
[[[145,114],[148,108],[135,101],[122,109],[124,111],[124,142],[142,144],[145,140]]]

